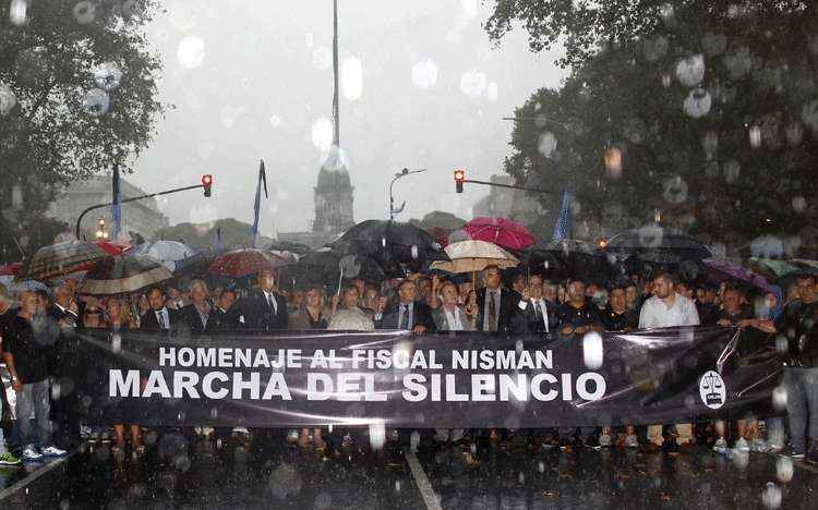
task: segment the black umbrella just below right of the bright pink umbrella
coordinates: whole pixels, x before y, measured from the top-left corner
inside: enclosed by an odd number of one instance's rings
[[[522,252],[522,264],[532,272],[549,278],[605,277],[612,272],[604,252],[575,239],[540,242]]]

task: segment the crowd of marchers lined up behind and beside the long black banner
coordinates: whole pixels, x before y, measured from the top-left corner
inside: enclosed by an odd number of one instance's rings
[[[0,286],[3,379],[11,386],[8,392],[2,388],[0,465],[64,456],[76,447],[74,433],[81,440],[110,441],[115,453],[124,451],[129,442],[135,457],[145,452],[140,425],[76,424],[60,409],[53,382],[67,354],[57,347],[63,332],[73,328],[192,335],[231,329],[388,329],[418,335],[486,331],[581,338],[589,331],[697,325],[738,328],[747,342],[789,352],[782,380],[785,421],[767,418],[761,427],[748,414],[735,424],[679,423],[675,433],[662,425],[622,430],[436,430],[432,440],[464,445],[482,439],[524,440],[564,451],[586,447],[684,451],[707,440],[724,452],[731,438],[737,450],[780,451],[818,462],[818,340],[814,339],[818,289],[811,275],[799,276],[784,294],[774,288],[765,291],[730,282],[679,281],[664,271],[609,282],[578,278],[550,281],[539,274],[503,271],[496,266],[481,271],[477,286],[443,275],[416,274],[383,282],[350,279],[328,296],[323,284],[284,291],[277,283],[274,270],[262,270],[248,290],[208,287],[201,279],[185,284],[171,280],[129,295],[95,298],[80,295],[72,279],[50,291],[15,295]],[[7,393],[14,398],[7,399]],[[57,446],[52,435],[65,428],[69,430]],[[232,432],[246,434],[240,428]],[[217,428],[212,437],[225,441],[230,434],[230,429]],[[322,451],[349,446],[352,436],[347,433],[335,440],[320,428],[289,434],[296,445]],[[786,450],[785,437],[790,440]]]

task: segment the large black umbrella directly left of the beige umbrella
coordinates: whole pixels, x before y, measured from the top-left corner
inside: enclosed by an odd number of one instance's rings
[[[418,272],[432,260],[448,260],[441,245],[425,230],[386,220],[358,223],[330,246],[337,253],[370,257],[387,275],[401,274],[402,268]]]

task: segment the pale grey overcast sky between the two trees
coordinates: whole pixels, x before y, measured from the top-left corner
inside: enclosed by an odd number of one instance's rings
[[[454,193],[453,171],[502,172],[509,117],[565,72],[553,53],[533,54],[518,29],[494,48],[478,0],[339,1],[340,142],[349,157],[354,215],[388,214],[388,183],[404,167],[426,168],[396,184],[400,219],[442,209],[470,218],[486,194]],[[313,190],[332,141],[332,0],[167,2],[148,25],[165,73],[163,101],[176,105],[130,180],[147,191],[213,173],[214,196],[160,202],[171,223],[252,220],[258,159],[269,199],[261,228],[310,228]]]

